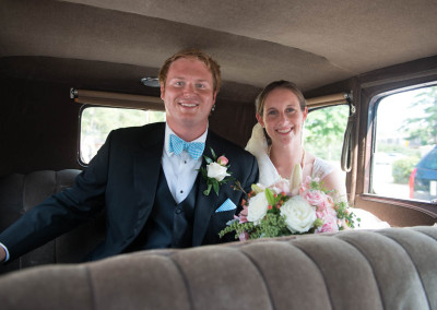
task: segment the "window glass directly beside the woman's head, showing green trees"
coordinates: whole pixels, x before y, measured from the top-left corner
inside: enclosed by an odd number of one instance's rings
[[[310,110],[304,130],[305,150],[340,168],[349,114],[349,105]]]

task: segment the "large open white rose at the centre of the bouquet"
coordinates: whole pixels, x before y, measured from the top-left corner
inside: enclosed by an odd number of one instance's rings
[[[303,196],[295,195],[281,206],[281,215],[285,216],[285,224],[292,233],[307,233],[316,220],[316,207]]]

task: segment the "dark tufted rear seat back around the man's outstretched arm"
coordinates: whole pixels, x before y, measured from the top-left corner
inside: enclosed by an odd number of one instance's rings
[[[42,170],[1,177],[0,231],[49,195],[71,187],[80,172],[79,169]],[[78,227],[5,265],[0,265],[0,274],[40,264],[80,262],[103,239],[104,228],[103,218]]]

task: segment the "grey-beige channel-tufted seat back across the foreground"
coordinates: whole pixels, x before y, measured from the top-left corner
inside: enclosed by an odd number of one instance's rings
[[[437,309],[437,227],[155,250],[0,276],[1,309]]]

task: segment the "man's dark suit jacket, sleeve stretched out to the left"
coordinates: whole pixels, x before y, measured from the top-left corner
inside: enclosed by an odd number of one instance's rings
[[[35,206],[15,224],[0,234],[15,259],[34,248],[93,218],[105,208],[106,240],[93,253],[97,260],[121,253],[144,227],[151,214],[161,169],[165,123],[113,131],[74,186],[52,195]],[[232,177],[239,180],[248,192],[258,180],[257,160],[239,146],[209,130],[204,154],[210,158],[210,147],[217,156],[229,159]],[[202,166],[205,165],[203,159]],[[218,196],[211,191],[203,195],[206,183],[199,182],[194,211],[192,245],[217,243],[218,231],[232,219],[236,211],[215,213],[229,198],[237,206],[240,191],[231,188],[233,182],[221,186]],[[232,235],[232,234],[228,234]]]

